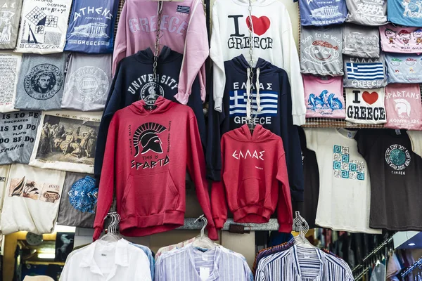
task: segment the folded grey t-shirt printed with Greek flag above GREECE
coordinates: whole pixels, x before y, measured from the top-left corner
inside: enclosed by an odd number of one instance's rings
[[[374,89],[387,85],[383,53],[379,58],[354,58],[345,55],[343,61],[345,87]]]

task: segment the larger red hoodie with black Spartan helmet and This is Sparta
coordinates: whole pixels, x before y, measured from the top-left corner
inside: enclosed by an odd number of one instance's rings
[[[205,178],[205,158],[190,107],[161,96],[152,110],[143,100],[118,110],[110,122],[94,223],[94,240],[117,199],[120,233],[144,236],[184,225],[186,167],[217,240]]]

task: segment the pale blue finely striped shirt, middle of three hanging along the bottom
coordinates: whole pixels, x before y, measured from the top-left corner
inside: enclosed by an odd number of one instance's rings
[[[222,247],[203,252],[190,244],[162,254],[155,263],[155,281],[204,280],[251,281],[253,277],[241,254]]]

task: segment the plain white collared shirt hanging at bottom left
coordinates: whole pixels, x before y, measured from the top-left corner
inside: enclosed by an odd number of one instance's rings
[[[152,281],[148,256],[127,240],[97,240],[68,257],[60,281]]]

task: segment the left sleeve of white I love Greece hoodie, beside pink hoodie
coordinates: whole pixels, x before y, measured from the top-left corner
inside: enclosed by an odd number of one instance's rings
[[[226,84],[226,73],[224,71],[224,58],[222,51],[222,39],[217,13],[217,1],[212,7],[212,31],[211,31],[210,58],[213,63],[213,98],[214,109],[222,112],[224,86]]]

